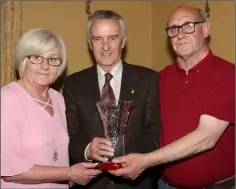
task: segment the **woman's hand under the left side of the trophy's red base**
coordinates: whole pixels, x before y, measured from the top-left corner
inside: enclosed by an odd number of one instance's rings
[[[101,173],[96,169],[97,163],[77,163],[71,167],[71,180],[80,185],[86,185]]]

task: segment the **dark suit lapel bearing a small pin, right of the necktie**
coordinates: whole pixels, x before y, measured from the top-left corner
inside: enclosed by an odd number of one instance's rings
[[[126,62],[123,62],[120,100],[132,101],[137,79],[137,75],[133,71],[132,67]]]

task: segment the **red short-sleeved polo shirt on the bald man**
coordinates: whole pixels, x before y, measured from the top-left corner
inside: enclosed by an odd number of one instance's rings
[[[177,62],[160,72],[161,146],[194,131],[203,114],[235,123],[235,66],[209,51],[188,75]],[[235,127],[227,127],[216,146],[164,169],[176,187],[198,189],[235,173]]]

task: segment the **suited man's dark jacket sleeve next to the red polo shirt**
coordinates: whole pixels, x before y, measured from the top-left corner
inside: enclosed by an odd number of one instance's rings
[[[160,140],[160,116],[158,101],[158,75],[153,73],[148,80],[150,88],[145,102],[145,152],[151,152],[159,148]]]

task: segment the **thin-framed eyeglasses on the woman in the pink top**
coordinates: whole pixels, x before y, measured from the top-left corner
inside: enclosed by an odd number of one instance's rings
[[[62,63],[62,60],[60,58],[53,58],[53,57],[44,58],[43,56],[38,56],[38,55],[30,55],[27,56],[27,58],[32,64],[42,64],[44,59],[47,60],[50,66],[60,66]]]

